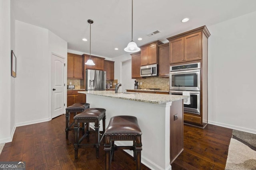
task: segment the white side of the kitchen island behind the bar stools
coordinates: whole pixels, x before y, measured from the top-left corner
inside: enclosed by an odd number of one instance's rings
[[[150,104],[90,94],[86,95],[86,101],[90,103],[90,108],[106,109],[106,127],[112,116],[136,116],[142,130],[142,163],[154,170],[171,170],[170,104]],[[123,141],[116,141],[115,144],[118,145],[118,142],[127,145]],[[133,156],[132,151],[125,151]]]

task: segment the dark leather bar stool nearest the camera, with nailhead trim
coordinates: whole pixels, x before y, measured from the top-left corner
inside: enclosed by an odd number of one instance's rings
[[[105,170],[110,169],[112,159],[114,159],[114,150],[129,149],[133,150],[133,158],[136,161],[136,170],[141,168],[141,135],[142,132],[138,125],[138,120],[134,116],[114,116],[104,133],[105,150]],[[132,146],[115,146],[114,141],[133,141]]]

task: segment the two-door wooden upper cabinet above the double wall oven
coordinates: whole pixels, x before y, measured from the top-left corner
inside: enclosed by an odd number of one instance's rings
[[[170,42],[170,64],[202,59],[203,45],[210,33],[206,26],[167,38]]]

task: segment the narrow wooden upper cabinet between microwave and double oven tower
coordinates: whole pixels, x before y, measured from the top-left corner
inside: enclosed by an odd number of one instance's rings
[[[158,46],[158,75],[168,77],[170,74],[169,43]]]

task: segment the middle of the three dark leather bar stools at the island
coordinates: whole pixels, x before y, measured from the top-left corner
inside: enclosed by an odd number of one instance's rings
[[[86,109],[82,113],[79,113],[74,117],[74,131],[75,131],[75,142],[74,142],[74,150],[75,150],[75,159],[78,157],[78,147],[84,146],[95,146],[96,147],[96,158],[99,158],[99,148],[100,141],[105,132],[105,119],[106,119],[106,109],[103,108],[90,108]],[[100,121],[102,120],[103,131],[100,131]],[[94,129],[96,133],[96,141],[94,144],[81,144],[83,139],[87,137],[87,142],[89,142],[89,134],[90,134],[90,123],[94,123]],[[79,139],[79,126],[80,123],[86,125],[86,133]],[[101,135],[100,135],[101,134]]]

